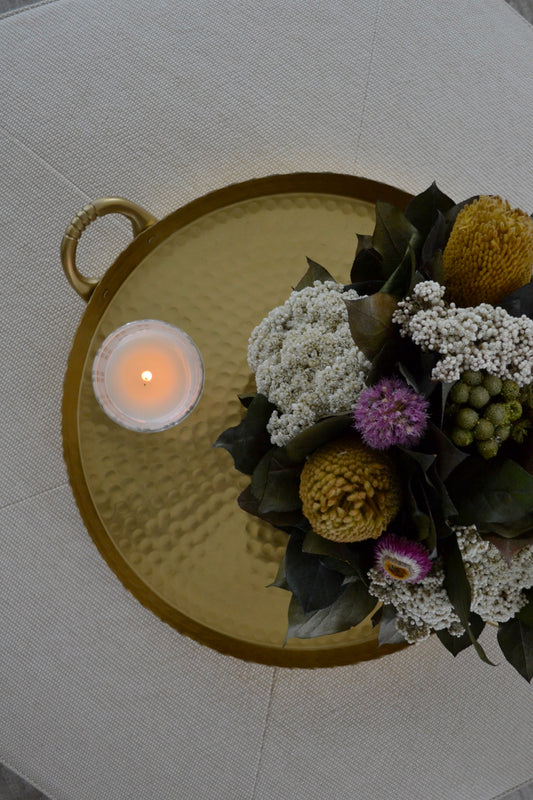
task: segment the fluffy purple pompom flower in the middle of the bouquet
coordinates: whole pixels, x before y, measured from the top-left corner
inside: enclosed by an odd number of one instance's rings
[[[428,401],[399,378],[363,389],[353,410],[355,427],[369,447],[417,444],[428,422]]]

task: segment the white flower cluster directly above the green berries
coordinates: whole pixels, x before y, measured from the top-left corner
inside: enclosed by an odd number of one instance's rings
[[[488,303],[473,308],[448,305],[444,292],[435,281],[419,283],[398,303],[392,318],[402,336],[443,356],[433,369],[433,380],[451,383],[467,369],[484,369],[519,386],[533,382],[533,320],[512,317]]]

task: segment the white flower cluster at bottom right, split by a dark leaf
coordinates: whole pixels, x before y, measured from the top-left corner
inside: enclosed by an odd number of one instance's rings
[[[507,564],[498,548],[482,539],[473,525],[454,530],[472,588],[471,610],[485,622],[511,619],[527,602],[523,590],[533,586],[533,545],[522,548]],[[439,559],[419,583],[396,581],[377,568],[368,576],[370,593],[396,608],[396,626],[408,642],[427,639],[432,629],[446,628],[452,636],[463,633],[444,589]]]

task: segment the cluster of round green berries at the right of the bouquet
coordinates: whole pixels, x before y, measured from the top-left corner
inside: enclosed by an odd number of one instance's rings
[[[533,387],[500,380],[484,370],[466,370],[454,384],[446,406],[447,428],[458,447],[473,444],[483,458],[494,458],[507,439],[523,442],[533,417]]]

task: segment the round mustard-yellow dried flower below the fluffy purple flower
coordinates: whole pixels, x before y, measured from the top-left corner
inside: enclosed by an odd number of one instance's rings
[[[300,498],[320,536],[336,542],[377,539],[400,509],[400,480],[388,455],[344,437],[308,458]]]

